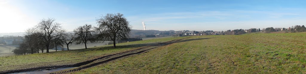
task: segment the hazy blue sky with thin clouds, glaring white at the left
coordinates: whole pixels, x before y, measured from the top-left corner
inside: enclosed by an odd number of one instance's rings
[[[72,31],[120,12],[132,29],[214,30],[305,25],[306,0],[0,0],[0,33],[24,32],[52,17]]]

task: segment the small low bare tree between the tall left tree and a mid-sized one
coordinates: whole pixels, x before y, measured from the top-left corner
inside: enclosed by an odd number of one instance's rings
[[[63,33],[63,36],[61,37],[62,42],[64,42],[67,45],[67,50],[69,50],[69,44],[73,44],[75,39],[76,39],[76,35],[74,33]]]

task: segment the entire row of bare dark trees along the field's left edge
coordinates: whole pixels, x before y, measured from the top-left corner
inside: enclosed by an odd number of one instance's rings
[[[127,19],[120,13],[109,13],[96,19],[97,26],[85,24],[73,30],[66,32],[61,23],[54,18],[42,19],[35,27],[26,30],[24,42],[20,44],[14,53],[22,55],[26,53],[39,53],[39,51],[55,48],[65,44],[67,50],[71,44],[99,43],[104,41],[113,41],[114,48],[116,40],[126,39],[129,37],[131,26]]]

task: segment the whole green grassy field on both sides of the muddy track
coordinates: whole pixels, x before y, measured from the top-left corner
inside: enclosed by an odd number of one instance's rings
[[[141,48],[169,37],[71,51],[0,57],[0,71],[19,65],[67,64]],[[306,33],[191,36],[185,41],[120,58],[72,74],[96,73],[306,73]],[[12,67],[13,65],[13,67]]]

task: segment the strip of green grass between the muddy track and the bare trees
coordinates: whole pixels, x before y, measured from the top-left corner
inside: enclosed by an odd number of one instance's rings
[[[9,70],[9,69],[18,69],[20,67],[30,68],[35,66],[49,65],[49,64],[60,65],[60,64],[77,63],[95,58],[97,56],[110,55],[123,51],[129,51],[144,47],[151,43],[165,42],[177,38],[182,38],[182,37],[151,39],[146,41],[134,41],[129,43],[116,44],[118,48],[113,48],[112,45],[106,45],[106,46],[94,47],[88,49],[0,57],[0,71]]]

